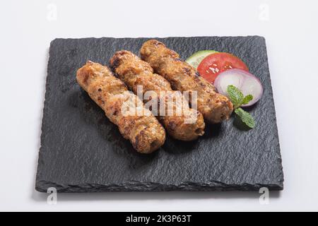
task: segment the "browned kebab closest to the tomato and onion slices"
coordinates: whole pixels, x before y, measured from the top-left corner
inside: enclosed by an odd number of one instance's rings
[[[217,93],[216,88],[199,76],[191,65],[179,59],[179,54],[158,40],[143,43],[140,53],[141,59],[147,61],[155,73],[165,77],[173,89],[197,92],[198,109],[204,119],[211,123],[229,119],[233,110],[232,102]]]

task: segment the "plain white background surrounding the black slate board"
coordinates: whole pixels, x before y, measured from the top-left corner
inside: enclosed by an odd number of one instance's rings
[[[317,2],[1,2],[0,210],[318,210]],[[49,42],[201,35],[266,37],[285,189],[269,205],[257,192],[61,194],[48,205],[34,186]]]

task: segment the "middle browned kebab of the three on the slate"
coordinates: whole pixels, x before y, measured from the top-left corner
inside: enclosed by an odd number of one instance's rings
[[[153,69],[146,61],[142,61],[132,52],[123,50],[114,54],[110,59],[110,66],[118,78],[124,81],[135,94],[137,86],[141,85],[143,93],[151,91],[150,100],[160,100],[158,109],[160,109],[160,105],[164,105],[161,107],[165,109],[165,114],[159,115],[158,119],[170,136],[180,141],[193,141],[204,134],[205,124],[202,114],[196,109],[189,108],[182,93],[173,91],[170,83],[163,76],[153,73]],[[179,98],[178,100],[181,101],[173,101],[173,97]],[[169,101],[167,98],[170,98],[170,105],[167,104]],[[184,105],[182,105],[182,101]],[[170,107],[173,112],[167,114],[167,107]],[[179,109],[179,114],[177,114],[177,109]]]

